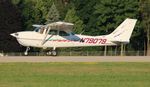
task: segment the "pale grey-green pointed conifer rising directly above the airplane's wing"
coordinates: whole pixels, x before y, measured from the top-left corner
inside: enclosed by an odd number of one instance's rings
[[[51,8],[47,14],[46,24],[59,21],[59,18],[60,18],[59,12],[58,12],[55,4],[53,3],[53,5],[51,6]]]

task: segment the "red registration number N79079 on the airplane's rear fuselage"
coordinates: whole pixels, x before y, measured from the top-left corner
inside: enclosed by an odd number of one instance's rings
[[[102,38],[84,38],[83,39],[85,43],[90,43],[90,44],[105,44],[107,39],[102,39]]]

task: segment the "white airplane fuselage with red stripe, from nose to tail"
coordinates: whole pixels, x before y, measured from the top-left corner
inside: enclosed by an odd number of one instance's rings
[[[68,33],[67,36],[41,34],[35,31],[17,32],[15,36],[23,46],[51,48],[51,47],[85,47],[116,45],[106,36],[87,36]]]

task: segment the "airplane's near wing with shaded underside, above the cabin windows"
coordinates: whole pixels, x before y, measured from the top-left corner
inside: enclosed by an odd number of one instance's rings
[[[66,31],[66,32],[71,32],[73,29],[73,26],[74,24],[72,23],[62,22],[62,21],[47,24],[47,27],[51,27],[52,29]]]

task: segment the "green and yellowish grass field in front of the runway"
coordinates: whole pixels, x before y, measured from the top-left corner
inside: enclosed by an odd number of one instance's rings
[[[150,63],[0,63],[0,87],[150,87]]]

